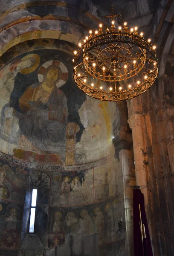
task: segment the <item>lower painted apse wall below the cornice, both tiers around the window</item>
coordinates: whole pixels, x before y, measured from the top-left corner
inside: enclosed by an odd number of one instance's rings
[[[35,233],[44,247],[80,256],[88,243],[97,251],[112,246],[122,214],[115,165],[110,160],[92,169],[58,172],[0,160],[0,248],[20,250],[28,232],[33,187],[38,189]]]

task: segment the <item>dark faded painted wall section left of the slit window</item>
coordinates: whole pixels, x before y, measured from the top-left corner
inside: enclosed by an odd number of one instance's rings
[[[20,246],[27,169],[0,160],[0,252],[16,255]],[[8,250],[6,250],[8,249]]]

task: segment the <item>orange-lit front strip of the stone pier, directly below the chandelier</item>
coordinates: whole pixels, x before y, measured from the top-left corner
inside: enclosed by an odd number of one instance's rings
[[[143,105],[144,104],[144,105]],[[147,148],[151,145],[151,121],[148,114],[148,94],[128,101],[128,123],[132,130],[133,154],[135,163],[136,185],[144,194],[145,211],[151,234],[151,188],[149,186],[149,165]],[[146,112],[146,113],[144,113]],[[148,140],[147,140],[148,137]]]

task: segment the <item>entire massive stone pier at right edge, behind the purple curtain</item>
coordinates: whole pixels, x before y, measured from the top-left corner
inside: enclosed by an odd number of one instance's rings
[[[145,198],[155,256],[173,255],[174,78],[162,76],[147,93],[128,101],[136,184]]]

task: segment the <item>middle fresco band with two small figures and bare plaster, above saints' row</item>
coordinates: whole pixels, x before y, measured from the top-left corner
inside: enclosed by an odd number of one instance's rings
[[[99,202],[116,195],[116,176],[112,160],[92,169],[52,172],[52,206],[72,206]],[[56,197],[55,197],[56,195]]]

